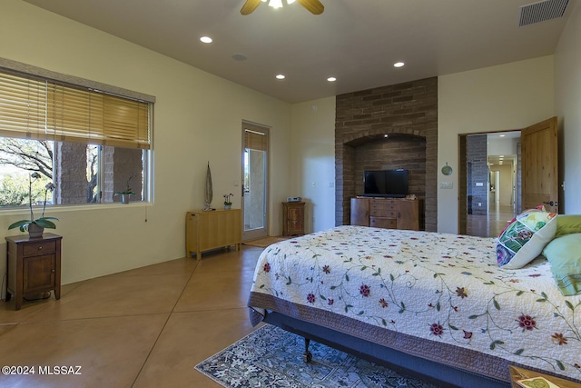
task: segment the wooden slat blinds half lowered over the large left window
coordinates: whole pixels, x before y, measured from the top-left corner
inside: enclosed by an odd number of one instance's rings
[[[0,73],[0,135],[151,147],[150,104],[33,76]]]

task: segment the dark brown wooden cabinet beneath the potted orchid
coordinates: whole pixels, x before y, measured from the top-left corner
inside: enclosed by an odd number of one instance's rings
[[[16,310],[28,295],[54,290],[54,298],[61,298],[62,239],[49,233],[40,238],[6,237],[6,301],[14,296]]]

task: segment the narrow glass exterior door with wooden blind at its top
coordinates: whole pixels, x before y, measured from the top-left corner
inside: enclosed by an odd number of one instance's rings
[[[268,235],[269,129],[242,122],[242,241]]]

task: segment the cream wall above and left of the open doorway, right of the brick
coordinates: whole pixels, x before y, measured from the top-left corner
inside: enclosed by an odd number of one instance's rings
[[[458,134],[510,131],[555,115],[553,56],[438,77],[438,232],[458,233]],[[438,174],[439,183],[444,175]]]

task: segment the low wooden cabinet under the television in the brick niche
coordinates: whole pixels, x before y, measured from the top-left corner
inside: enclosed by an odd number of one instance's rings
[[[404,198],[351,198],[351,224],[419,231],[421,200]]]

